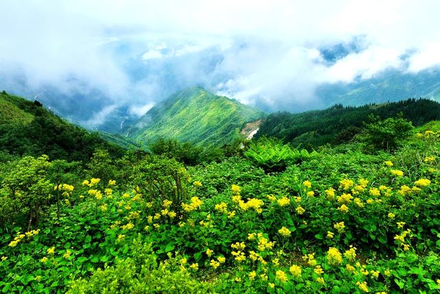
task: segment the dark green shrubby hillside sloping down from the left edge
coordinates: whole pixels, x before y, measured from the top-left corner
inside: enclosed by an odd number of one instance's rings
[[[107,143],[43,108],[38,101],[0,93],[0,150],[12,156],[40,156],[87,161],[97,148],[120,156],[123,149]]]

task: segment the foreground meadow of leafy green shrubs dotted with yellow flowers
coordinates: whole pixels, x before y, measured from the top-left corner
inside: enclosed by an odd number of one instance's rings
[[[267,138],[192,166],[173,142],[0,160],[0,291],[437,293],[439,129],[388,118],[337,147]]]

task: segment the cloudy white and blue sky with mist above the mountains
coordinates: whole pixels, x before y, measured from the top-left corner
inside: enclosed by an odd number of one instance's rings
[[[440,64],[436,0],[0,0],[0,12],[0,87],[99,92],[91,125],[194,85],[280,110],[325,83]]]

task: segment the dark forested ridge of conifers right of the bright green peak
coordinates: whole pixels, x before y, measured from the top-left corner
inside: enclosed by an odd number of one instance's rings
[[[267,116],[255,138],[276,137],[308,149],[327,143],[346,143],[360,133],[364,123],[371,121],[369,116],[385,119],[397,116],[399,112],[413,125],[423,125],[430,120],[440,119],[440,103],[428,99],[408,99],[360,107],[335,105],[300,114],[277,112]]]

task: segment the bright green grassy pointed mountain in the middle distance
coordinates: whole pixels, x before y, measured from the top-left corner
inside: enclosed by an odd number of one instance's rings
[[[193,87],[153,107],[132,129],[131,138],[148,145],[157,138],[175,138],[200,145],[224,145],[241,138],[245,123],[263,112],[238,101]]]

